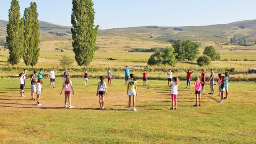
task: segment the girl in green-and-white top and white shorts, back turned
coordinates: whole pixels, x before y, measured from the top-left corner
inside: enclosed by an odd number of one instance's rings
[[[130,78],[127,84],[127,95],[129,95],[128,110],[131,110],[131,100],[133,100],[133,111],[137,111],[135,108],[135,95],[139,95],[137,92],[137,81],[133,74],[130,75]]]

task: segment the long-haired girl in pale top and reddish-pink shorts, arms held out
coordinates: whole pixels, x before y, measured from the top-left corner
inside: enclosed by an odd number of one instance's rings
[[[73,94],[75,94],[75,92],[73,89],[72,82],[70,81],[69,75],[67,75],[67,77],[65,78],[65,83],[63,83],[60,94],[62,94],[62,91],[64,89],[65,89],[65,106],[64,106],[64,108],[67,108],[67,99],[68,99],[68,103],[69,103],[69,108],[74,108],[74,106],[71,105],[71,90],[72,90]]]

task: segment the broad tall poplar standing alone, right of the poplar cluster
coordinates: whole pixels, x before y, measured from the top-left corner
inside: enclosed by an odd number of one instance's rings
[[[94,26],[92,0],[73,0],[71,14],[72,46],[79,66],[87,66],[93,60],[99,25]]]

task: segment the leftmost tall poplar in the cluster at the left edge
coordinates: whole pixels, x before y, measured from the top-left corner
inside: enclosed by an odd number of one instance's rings
[[[6,43],[9,49],[9,62],[17,65],[23,54],[23,19],[20,19],[20,6],[17,0],[11,1],[9,23],[6,27]]]

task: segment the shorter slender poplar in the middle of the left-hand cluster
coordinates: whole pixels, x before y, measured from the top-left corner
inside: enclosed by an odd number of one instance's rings
[[[32,11],[31,8],[26,8],[23,16],[24,21],[24,53],[23,61],[26,66],[29,66],[33,59],[33,45],[34,45],[34,36],[33,34],[33,23],[32,23]]]

